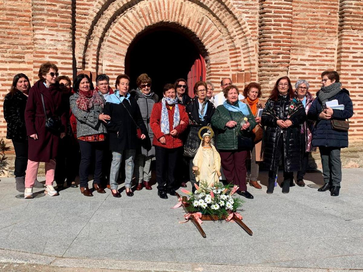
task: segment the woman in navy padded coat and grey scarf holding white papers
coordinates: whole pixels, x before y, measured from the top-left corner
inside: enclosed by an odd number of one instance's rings
[[[348,147],[348,128],[336,128],[334,120],[344,121],[353,116],[353,103],[349,92],[341,88],[339,74],[336,71],[324,71],[321,74],[322,87],[317,98],[307,113],[307,117],[316,120],[313,130],[313,147],[319,147],[321,164],[323,167],[324,185],[318,191],[330,189],[330,195],[339,195],[342,181],[342,162],[340,149]],[[327,106],[327,102],[338,100],[340,109]]]

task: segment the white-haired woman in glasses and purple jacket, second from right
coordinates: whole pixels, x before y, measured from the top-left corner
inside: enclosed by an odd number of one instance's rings
[[[295,93],[297,97],[300,99],[301,103],[303,104],[305,108],[305,113],[309,111],[311,104],[314,101],[313,96],[309,92],[309,82],[307,82],[305,79],[299,79],[295,83]],[[311,140],[313,139],[313,136],[311,132],[314,128],[314,121],[306,120],[302,124],[301,129],[301,136],[302,136],[302,146],[303,146],[303,154],[302,154],[302,160],[301,160],[301,169],[297,172],[296,176],[296,184],[300,187],[305,186],[304,182],[304,176],[306,173],[306,168],[309,164],[309,153],[313,151],[313,145],[311,144]],[[291,186],[291,184],[290,184]]]

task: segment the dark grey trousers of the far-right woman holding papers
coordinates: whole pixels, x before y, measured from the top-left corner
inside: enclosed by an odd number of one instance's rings
[[[340,147],[319,147],[324,182],[340,187],[342,181],[342,161]]]

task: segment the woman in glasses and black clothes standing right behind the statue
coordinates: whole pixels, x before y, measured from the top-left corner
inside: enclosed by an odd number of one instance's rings
[[[193,158],[200,145],[198,133],[202,127],[211,126],[211,118],[216,108],[206,99],[207,84],[205,82],[196,82],[193,90],[195,97],[185,107],[189,117],[189,130],[187,140],[184,143],[184,156],[189,159],[189,178],[194,192],[196,178],[192,168]]]

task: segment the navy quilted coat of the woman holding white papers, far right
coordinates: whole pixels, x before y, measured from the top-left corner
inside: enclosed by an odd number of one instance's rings
[[[319,94],[319,92],[318,92]],[[333,110],[333,119],[346,120],[353,116],[353,103],[347,89],[342,89],[329,101],[337,99],[338,104],[344,105],[344,110]],[[313,147],[348,147],[348,132],[336,131],[331,128],[331,120],[319,118],[323,111],[319,98],[315,99],[307,113],[311,120],[317,120],[313,129]]]

